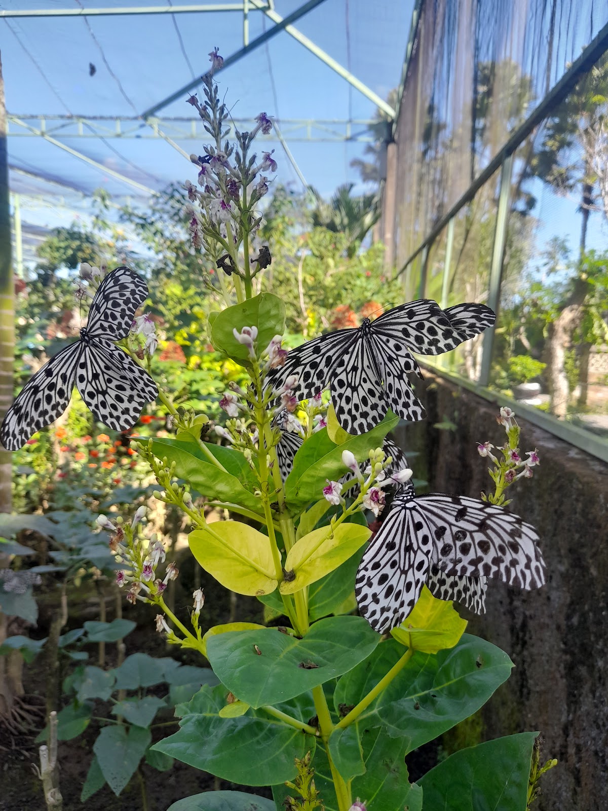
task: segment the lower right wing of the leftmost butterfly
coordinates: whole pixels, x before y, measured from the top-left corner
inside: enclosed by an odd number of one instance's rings
[[[76,386],[96,418],[114,431],[133,427],[143,405],[158,396],[148,372],[105,338],[92,339],[84,347]]]

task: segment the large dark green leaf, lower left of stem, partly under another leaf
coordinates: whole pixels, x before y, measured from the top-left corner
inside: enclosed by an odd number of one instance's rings
[[[293,758],[303,757],[308,750],[314,752],[315,738],[272,719],[263,710],[250,710],[238,718],[221,718],[226,693],[222,684],[215,688],[205,684],[191,702],[176,709],[176,714],[182,716],[178,732],[154,744],[153,749],[246,786],[268,786],[293,779]],[[281,709],[298,717],[298,709],[293,706]],[[310,715],[301,720],[308,718]]]

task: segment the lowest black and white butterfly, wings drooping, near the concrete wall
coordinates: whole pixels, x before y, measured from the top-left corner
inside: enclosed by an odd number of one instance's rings
[[[486,577],[537,588],[545,582],[537,540],[533,526],[502,507],[468,496],[416,496],[408,482],[363,553],[359,611],[385,633],[405,620],[425,583],[435,596],[473,610],[483,608]]]

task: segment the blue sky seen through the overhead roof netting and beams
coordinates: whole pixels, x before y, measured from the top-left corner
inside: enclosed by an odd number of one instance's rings
[[[275,9],[285,17],[302,3],[276,0]],[[179,2],[193,4],[195,0]],[[126,5],[165,6],[170,5],[170,0],[0,3],[2,10]],[[413,0],[325,0],[295,26],[379,97],[386,98],[400,81],[412,10]],[[251,11],[249,19],[250,41],[273,25],[261,11]],[[0,31],[6,109],[9,114],[29,117],[28,122],[35,127],[40,124],[32,117],[42,114],[139,115],[181,88],[193,75],[206,71],[208,52],[213,47],[217,46],[225,57],[242,47],[242,15],[230,11],[177,14],[173,18],[3,18]],[[262,45],[221,71],[218,82],[235,118],[255,116],[262,110],[279,119],[368,120],[375,113],[373,101],[351,88],[286,32],[268,41],[268,47]],[[164,116],[191,114],[185,97],[161,112]],[[9,131],[9,161],[22,170],[11,171],[11,189],[25,194],[21,199],[24,224],[53,227],[69,223],[75,213],[86,217],[87,195],[96,187],[105,187],[116,200],[123,195],[141,194],[41,138],[18,135],[24,132],[20,127],[11,124]],[[144,126],[143,137],[105,141],[68,137],[61,132],[56,137],[146,187],[160,189],[169,182],[195,180],[192,165],[162,139],[146,137],[148,132]],[[290,140],[289,135],[286,139],[306,182],[321,194],[330,196],[341,183],[359,181],[356,169],[349,164],[353,157],[362,155],[364,144],[306,143]],[[201,151],[195,140],[178,144],[188,153]],[[277,181],[300,187],[298,175],[280,144],[264,148],[276,149]],[[36,182],[24,172],[55,178],[81,193]]]

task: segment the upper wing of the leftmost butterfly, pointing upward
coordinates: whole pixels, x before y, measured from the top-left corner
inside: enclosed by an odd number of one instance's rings
[[[129,334],[135,311],[146,300],[148,285],[131,268],[108,273],[93,296],[87,333],[93,338],[120,341]]]

